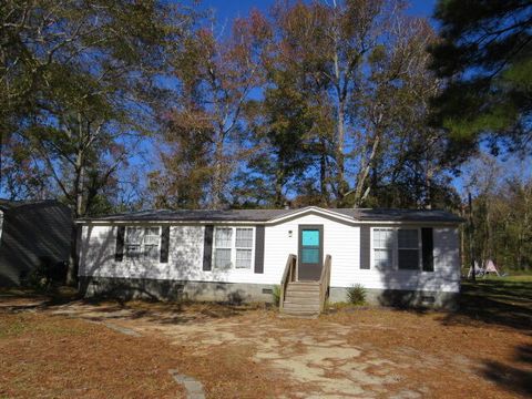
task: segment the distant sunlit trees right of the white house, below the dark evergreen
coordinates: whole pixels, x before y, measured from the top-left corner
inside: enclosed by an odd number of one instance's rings
[[[523,173],[522,165],[507,165],[487,154],[472,161],[470,168],[466,183],[474,195],[474,228],[471,233],[464,226],[464,248],[472,239],[473,256],[480,264],[493,259],[503,269],[530,269],[532,176]],[[463,250],[463,265],[470,265],[469,250]]]

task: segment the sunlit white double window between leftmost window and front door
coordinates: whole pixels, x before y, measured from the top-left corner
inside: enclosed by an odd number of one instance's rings
[[[253,227],[216,227],[214,231],[214,266],[250,268],[253,260]]]

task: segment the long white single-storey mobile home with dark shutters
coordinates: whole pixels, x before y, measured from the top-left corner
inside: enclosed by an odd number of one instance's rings
[[[282,280],[288,297],[318,295],[325,265],[330,301],[356,284],[379,304],[449,306],[460,290],[461,218],[443,211],[142,211],[78,223],[86,296],[268,301]]]

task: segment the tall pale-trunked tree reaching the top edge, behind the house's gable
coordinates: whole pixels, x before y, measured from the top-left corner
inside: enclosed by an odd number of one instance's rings
[[[368,55],[383,41],[397,9],[395,1],[315,1],[279,7],[274,16],[282,47],[300,60],[307,74],[307,91],[319,93],[332,109],[330,149],[323,149],[331,151],[327,175],[337,205],[349,191],[346,157],[352,157],[358,149],[352,145],[357,112],[352,99],[360,93]]]

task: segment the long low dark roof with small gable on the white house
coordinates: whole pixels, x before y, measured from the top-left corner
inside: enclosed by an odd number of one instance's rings
[[[299,209],[155,209],[82,218],[78,222],[275,222],[308,212],[323,213],[352,222],[463,222],[461,217],[440,209],[320,208],[317,206]]]

